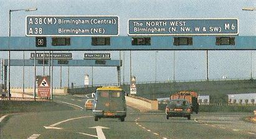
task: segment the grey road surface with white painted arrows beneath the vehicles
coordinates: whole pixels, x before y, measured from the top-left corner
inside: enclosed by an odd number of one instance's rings
[[[83,96],[55,96],[57,101],[84,107]],[[67,104],[69,105],[69,104]],[[199,113],[191,119],[161,112],[140,112],[128,107],[125,122],[100,119],[85,109],[13,115],[1,123],[1,138],[256,138],[255,123],[245,122],[248,113]]]

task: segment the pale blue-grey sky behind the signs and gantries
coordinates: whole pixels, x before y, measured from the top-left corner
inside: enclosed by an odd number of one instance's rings
[[[9,9],[27,9],[37,7],[32,12],[12,12],[11,36],[25,36],[25,18],[28,15],[75,15],[75,16],[118,16],[120,36],[127,36],[128,19],[186,19],[186,18],[237,18],[239,35],[256,35],[255,11],[242,11],[242,7],[255,7],[255,0],[129,0],[129,1],[95,1],[95,0],[0,0],[0,37],[8,36]],[[1,47],[1,44],[0,44]],[[29,53],[25,52],[26,59]],[[72,52],[73,59],[83,59],[83,53]],[[119,60],[118,52],[111,53],[112,60]],[[123,56],[125,53],[125,56]],[[174,51],[133,51],[131,52],[132,74],[138,82],[173,80]],[[156,56],[156,61],[155,61]],[[7,52],[0,52],[0,58],[7,58]],[[22,52],[11,52],[12,59],[22,59]],[[125,68],[121,68],[121,81],[125,73],[125,82],[130,78],[130,52],[121,52]],[[176,51],[175,79],[177,81],[206,79],[205,51]],[[256,76],[256,53],[252,51],[252,71]],[[157,76],[155,77],[155,67]],[[34,86],[34,69],[25,68],[25,86]],[[47,71],[46,71],[47,73]],[[67,86],[67,67],[62,69],[62,86]],[[42,74],[42,67],[37,68]],[[70,69],[70,83],[82,86],[85,74],[92,78],[92,67],[75,67]],[[116,83],[115,67],[94,67],[93,84]],[[250,51],[209,51],[209,79],[250,78]],[[1,81],[1,80],[0,80]],[[91,81],[90,81],[91,82]],[[90,83],[92,84],[92,83]],[[22,67],[11,67],[11,86],[22,86]],[[60,86],[60,68],[54,68],[54,86]]]

